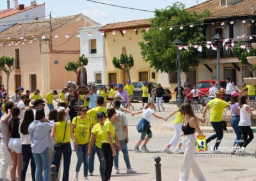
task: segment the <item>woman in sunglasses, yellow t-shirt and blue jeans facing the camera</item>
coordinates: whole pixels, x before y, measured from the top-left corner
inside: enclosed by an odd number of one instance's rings
[[[78,116],[74,117],[71,124],[71,138],[77,155],[75,180],[78,179],[79,170],[84,163],[84,180],[88,179],[88,143],[92,131],[92,119],[87,117],[85,106],[79,106]]]

